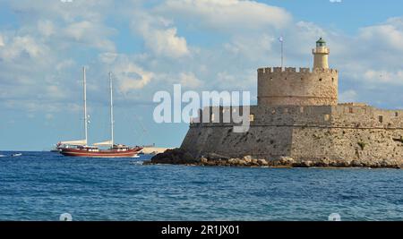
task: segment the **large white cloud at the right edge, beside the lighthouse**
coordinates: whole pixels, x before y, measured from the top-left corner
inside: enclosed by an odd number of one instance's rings
[[[338,55],[336,60],[348,78],[364,82],[364,87],[372,89],[403,83],[402,17],[365,27],[357,36],[345,41],[335,39],[338,40],[339,45],[345,44],[342,55]]]

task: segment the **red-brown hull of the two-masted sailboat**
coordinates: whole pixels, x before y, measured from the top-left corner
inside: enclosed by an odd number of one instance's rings
[[[60,152],[68,157],[82,157],[82,158],[133,158],[140,152],[141,148],[129,149],[127,151],[115,150],[101,150],[98,152],[90,152],[81,149],[62,149]]]

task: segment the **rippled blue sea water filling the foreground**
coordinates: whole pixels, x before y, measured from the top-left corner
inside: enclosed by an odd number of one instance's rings
[[[146,158],[0,158],[0,220],[403,219],[403,170],[142,166]]]

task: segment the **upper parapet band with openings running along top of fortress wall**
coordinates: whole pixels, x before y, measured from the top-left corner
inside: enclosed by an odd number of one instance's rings
[[[364,104],[338,106],[251,106],[244,115],[243,107],[204,107],[198,125],[234,125],[232,114],[249,119],[251,125],[322,125],[347,128],[403,128],[403,110],[384,110]],[[198,124],[199,123],[199,124]]]

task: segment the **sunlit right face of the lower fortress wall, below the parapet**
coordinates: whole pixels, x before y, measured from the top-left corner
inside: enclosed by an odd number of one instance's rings
[[[403,130],[303,128],[293,131],[290,157],[296,160],[353,160],[403,163]]]

